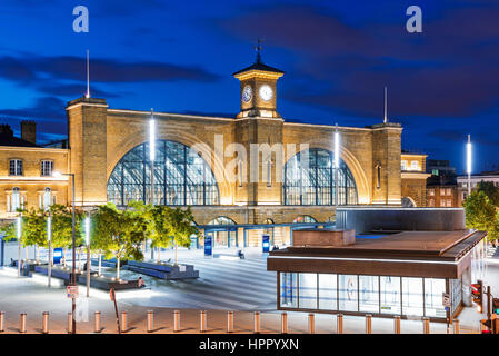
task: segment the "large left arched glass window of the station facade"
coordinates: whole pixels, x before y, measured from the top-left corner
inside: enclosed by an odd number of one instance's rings
[[[149,142],[137,146],[116,165],[108,181],[108,200],[151,202]],[[154,204],[219,205],[217,180],[209,165],[191,148],[174,141],[156,141]]]

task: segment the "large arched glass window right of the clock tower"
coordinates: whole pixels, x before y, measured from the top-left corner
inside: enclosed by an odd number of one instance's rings
[[[335,205],[332,152],[313,148],[295,155],[285,166],[282,199],[283,205]],[[357,204],[353,175],[341,159],[338,170],[338,204]]]

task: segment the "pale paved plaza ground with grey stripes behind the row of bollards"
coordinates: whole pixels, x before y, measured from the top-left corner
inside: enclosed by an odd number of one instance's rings
[[[217,253],[217,251],[216,251]],[[493,255],[493,254],[492,254]],[[491,256],[492,256],[491,255]],[[162,253],[163,259],[172,253]],[[208,333],[224,333],[227,310],[234,310],[234,332],[252,333],[252,310],[261,312],[261,332],[280,332],[280,312],[276,312],[276,275],[266,270],[266,261],[258,254],[247,254],[244,260],[204,258],[202,251],[179,254],[179,261],[192,263],[200,269],[198,280],[164,281],[144,277],[151,290],[118,293],[120,312],[127,310],[128,333],[147,330],[147,312],[154,312],[154,333],[172,333],[173,310],[181,312],[181,333],[199,333],[199,310],[207,310]],[[0,271],[0,310],[6,312],[6,333],[19,333],[19,313],[28,314],[28,333],[41,332],[41,313],[50,312],[51,333],[66,333],[71,300],[62,286],[47,288],[46,280],[17,278],[16,270]],[[112,275],[113,269],[106,269]],[[123,277],[130,271],[123,271]],[[129,276],[131,277],[131,276]],[[137,275],[133,275],[137,278]],[[488,261],[486,284],[499,295],[499,259]],[[84,287],[80,287],[84,294]],[[88,300],[88,322],[78,323],[79,333],[93,332],[96,310],[102,315],[102,333],[116,333],[113,304],[107,293],[91,289]],[[84,309],[84,308],[83,308]],[[251,310],[251,312],[250,312]],[[483,315],[466,308],[459,319],[461,333],[478,333]],[[288,313],[290,333],[308,333],[306,313]],[[335,315],[316,314],[316,333],[337,333]],[[365,318],[345,316],[345,333],[365,333]],[[401,320],[402,333],[422,333],[421,320]],[[431,333],[446,333],[446,325],[431,324]],[[392,333],[393,320],[372,319],[372,333]]]

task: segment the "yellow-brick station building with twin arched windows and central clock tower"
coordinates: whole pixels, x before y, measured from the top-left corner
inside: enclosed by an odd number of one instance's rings
[[[295,224],[333,221],[336,204],[397,207],[408,197],[412,205],[425,206],[426,156],[401,154],[399,123],[357,128],[288,122],[277,109],[281,76],[260,58],[236,72],[241,111],[233,118],[153,112],[153,166],[150,111],[110,108],[106,99],[70,101],[69,148],[0,147],[1,218],[12,218],[8,197],[16,192],[18,204],[18,191],[19,201],[28,206],[40,206],[47,188],[56,197],[50,201],[71,201],[70,178],[54,178],[56,170],[74,174],[78,208],[149,202],[151,167],[154,204],[192,206],[196,222],[223,246],[258,246],[266,231],[272,243],[289,243]],[[403,169],[402,157],[410,169]],[[12,175],[9,165],[16,159],[22,170]],[[415,169],[412,161],[419,165]],[[50,167],[50,175],[43,167]]]

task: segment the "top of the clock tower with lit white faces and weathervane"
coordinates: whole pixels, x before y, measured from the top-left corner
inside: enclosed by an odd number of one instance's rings
[[[283,71],[263,65],[261,44],[257,46],[257,61],[232,76],[241,81],[241,112],[237,118],[280,118],[277,112],[277,80]]]

